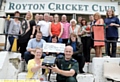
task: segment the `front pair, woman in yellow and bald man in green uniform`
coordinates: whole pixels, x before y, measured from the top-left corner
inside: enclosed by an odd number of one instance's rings
[[[57,73],[57,82],[77,82],[76,75],[79,67],[78,62],[72,58],[73,48],[71,46],[65,47],[64,57],[57,59],[56,65],[51,67],[42,66],[43,59],[40,59],[42,56],[41,48],[36,48],[34,55],[34,59],[28,62],[27,78],[41,80],[42,69],[50,69]]]

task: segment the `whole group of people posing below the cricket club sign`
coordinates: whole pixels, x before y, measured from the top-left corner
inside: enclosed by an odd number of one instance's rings
[[[20,13],[16,11],[15,16],[20,17]],[[33,14],[28,11],[25,16],[27,21],[25,35],[21,37],[9,36],[11,46],[14,38],[18,38],[22,59],[25,59],[26,63],[28,63],[28,72],[31,74],[28,75],[29,78],[39,75],[40,68],[46,69],[45,66],[41,66],[42,60],[40,58],[44,58],[52,53],[42,52],[39,49],[43,48],[43,44],[46,42],[66,44],[64,53],[54,53],[58,59],[63,60],[61,66],[56,63],[57,66],[49,68],[58,73],[58,82],[68,82],[65,78],[76,76],[78,69],[80,73],[84,73],[82,68],[85,62],[90,62],[91,48],[95,49],[96,57],[102,57],[102,47],[106,45],[106,54],[110,57],[116,56],[120,22],[112,9],[107,10],[105,19],[102,19],[99,13],[90,15],[89,22],[85,18],[78,17],[78,23],[75,19],[71,19],[69,23],[66,15],[62,15],[60,21],[59,15],[50,16],[48,13],[44,15],[36,14],[34,18]],[[22,34],[20,23],[24,23],[24,21],[20,22],[18,18],[12,19],[8,33]],[[11,47],[9,50],[11,50]],[[66,66],[67,68],[64,68]],[[63,79],[61,80],[60,78]],[[77,82],[76,80],[73,81],[73,79],[68,78],[69,82]]]

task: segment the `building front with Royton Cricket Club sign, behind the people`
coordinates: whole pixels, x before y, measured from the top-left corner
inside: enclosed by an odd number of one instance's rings
[[[68,21],[72,18],[77,20],[78,16],[82,16],[88,20],[88,16],[99,12],[104,18],[106,10],[113,9],[115,15],[120,18],[119,1],[118,0],[6,0],[2,3],[1,16],[13,14],[20,11],[24,15],[31,11],[33,14],[50,13],[51,15],[66,14]],[[3,22],[1,25],[3,25]],[[4,26],[4,25],[3,25]],[[3,28],[0,28],[0,32]]]

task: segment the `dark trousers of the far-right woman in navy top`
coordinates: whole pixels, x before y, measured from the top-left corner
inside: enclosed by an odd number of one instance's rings
[[[108,56],[110,56],[110,57],[116,57],[116,49],[117,49],[117,40],[118,40],[118,38],[117,37],[109,37],[109,38],[107,38],[107,40],[116,41],[116,42],[107,42],[106,43],[106,54]]]

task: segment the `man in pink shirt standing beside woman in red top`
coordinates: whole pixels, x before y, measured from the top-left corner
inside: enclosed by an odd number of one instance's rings
[[[67,44],[69,35],[70,35],[70,23],[67,22],[67,16],[62,15],[61,17],[61,23],[63,24],[63,34],[61,36],[63,43]]]

